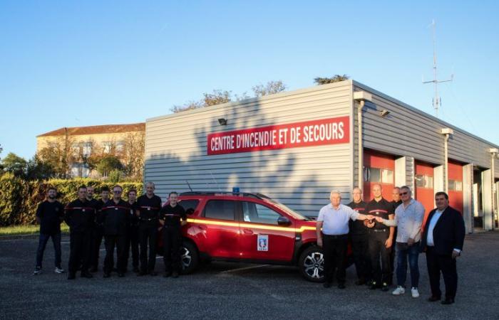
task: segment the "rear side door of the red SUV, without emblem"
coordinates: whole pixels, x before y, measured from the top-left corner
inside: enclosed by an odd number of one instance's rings
[[[236,201],[208,199],[196,219],[200,250],[210,257],[239,259],[239,222],[235,220]]]

